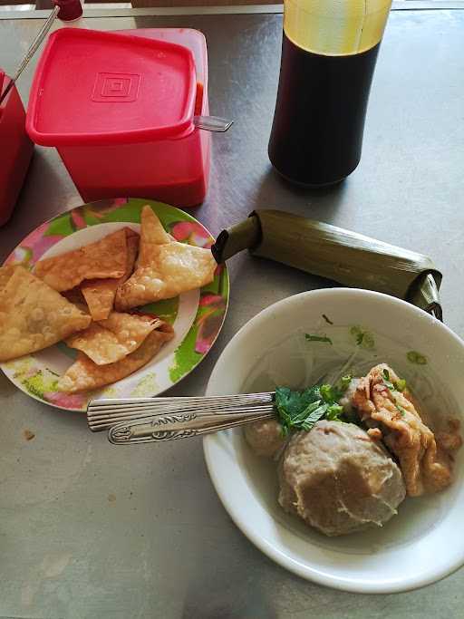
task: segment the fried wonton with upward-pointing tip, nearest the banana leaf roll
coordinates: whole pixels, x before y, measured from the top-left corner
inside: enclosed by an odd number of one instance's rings
[[[146,205],[141,211],[137,268],[118,288],[119,311],[169,299],[212,282],[216,261],[209,249],[175,241]]]

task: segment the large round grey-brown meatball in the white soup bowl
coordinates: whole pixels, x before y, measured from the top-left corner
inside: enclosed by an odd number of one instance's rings
[[[401,470],[352,423],[318,421],[298,432],[279,463],[278,501],[327,536],[382,524],[406,495]]]

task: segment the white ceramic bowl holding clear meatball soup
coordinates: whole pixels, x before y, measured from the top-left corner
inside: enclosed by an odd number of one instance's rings
[[[323,314],[333,325],[326,323]],[[462,418],[464,343],[459,337],[403,301],[347,288],[295,295],[256,315],[227,344],[207,393],[271,388],[268,378],[259,378],[259,368],[266,366],[269,356],[279,380],[286,380],[288,386],[301,385],[302,363],[292,353],[293,343],[300,342],[300,335],[304,340],[304,332],[332,336],[341,327],[349,333],[354,324],[374,336],[375,348],[364,352],[372,353],[371,365],[387,361],[412,384],[420,384],[420,389],[430,384],[435,393],[428,396],[425,389],[420,403],[436,406],[443,396],[440,412]],[[316,360],[320,357],[323,363],[327,344],[315,345],[321,351]],[[410,363],[408,350],[420,351],[427,365]],[[251,384],[253,375],[256,380]],[[436,495],[407,498],[398,516],[384,527],[345,537],[324,537],[279,508],[275,463],[256,457],[242,430],[210,435],[204,448],[213,484],[237,527],[267,556],[297,575],[346,591],[392,593],[428,585],[464,564],[464,448],[456,459],[451,487]]]

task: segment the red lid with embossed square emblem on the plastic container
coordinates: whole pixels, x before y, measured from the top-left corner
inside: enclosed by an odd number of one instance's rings
[[[63,28],[34,75],[26,129],[36,144],[128,144],[192,128],[196,76],[187,47]]]

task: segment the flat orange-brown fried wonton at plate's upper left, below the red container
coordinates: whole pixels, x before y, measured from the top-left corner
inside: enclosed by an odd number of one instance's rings
[[[126,232],[121,229],[90,245],[40,260],[35,265],[34,275],[62,292],[81,284],[84,279],[118,279],[124,275],[126,263]]]

